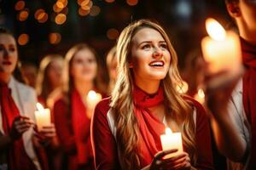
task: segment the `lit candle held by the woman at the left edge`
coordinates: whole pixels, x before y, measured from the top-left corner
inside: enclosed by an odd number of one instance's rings
[[[37,103],[38,111],[35,111],[38,131],[41,131],[44,126],[50,126],[50,111],[44,109],[43,105]]]

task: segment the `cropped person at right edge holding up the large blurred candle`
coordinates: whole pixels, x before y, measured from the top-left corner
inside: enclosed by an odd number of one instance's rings
[[[239,31],[245,71],[241,79],[237,75],[228,86],[209,90],[213,95],[207,103],[212,111],[216,144],[230,159],[229,169],[253,170],[256,169],[256,2],[225,2]],[[207,77],[218,78],[218,75]]]

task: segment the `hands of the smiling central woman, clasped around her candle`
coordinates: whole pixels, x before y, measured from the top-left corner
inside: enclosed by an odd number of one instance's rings
[[[154,156],[154,160],[150,164],[149,169],[190,169],[190,159],[188,153],[186,152],[180,153],[177,156],[173,156],[171,158],[164,158],[164,156],[175,152],[177,152],[177,150],[163,150],[158,152]]]

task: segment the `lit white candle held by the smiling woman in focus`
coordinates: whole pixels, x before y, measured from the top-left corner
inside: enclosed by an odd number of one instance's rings
[[[177,149],[177,152],[169,154],[165,156],[165,158],[177,156],[183,152],[183,140],[181,133],[172,133],[172,130],[166,127],[166,134],[160,135],[160,139],[163,150]]]

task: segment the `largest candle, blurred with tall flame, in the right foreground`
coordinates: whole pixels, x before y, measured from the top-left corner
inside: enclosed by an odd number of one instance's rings
[[[241,44],[238,35],[233,31],[225,31],[217,20],[207,19],[209,37],[201,41],[202,53],[209,63],[209,71],[218,73],[228,71],[229,77],[234,77],[241,71]],[[227,82],[227,75],[218,82]],[[217,86],[217,84],[216,84]]]

